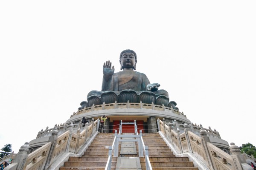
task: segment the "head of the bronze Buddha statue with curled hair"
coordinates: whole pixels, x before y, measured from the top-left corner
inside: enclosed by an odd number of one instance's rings
[[[136,70],[136,63],[137,63],[137,55],[135,51],[132,50],[124,50],[120,54],[119,59],[121,70],[123,68],[133,68]]]

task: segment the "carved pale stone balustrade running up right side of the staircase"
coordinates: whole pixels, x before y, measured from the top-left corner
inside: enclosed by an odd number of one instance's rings
[[[197,158],[200,158],[210,170],[250,169],[244,154],[240,153],[239,147],[234,143],[231,143],[229,147],[231,153],[229,154],[210,142],[209,136],[212,134],[219,136],[218,133],[213,133],[210,128],[205,129],[201,126],[200,135],[198,136],[192,131],[195,127],[193,125],[183,125],[183,133],[180,133],[178,128],[180,126],[177,125],[177,122],[170,124],[166,123],[165,119],[163,121],[158,119],[157,122],[160,133],[173,145],[176,153],[195,153]]]

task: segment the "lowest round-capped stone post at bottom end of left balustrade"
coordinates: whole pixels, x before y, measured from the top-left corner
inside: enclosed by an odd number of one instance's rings
[[[14,163],[18,163],[17,170],[23,170],[26,159],[29,156],[28,152],[29,142],[26,142],[20,147],[20,151],[16,154],[15,159],[13,160]]]

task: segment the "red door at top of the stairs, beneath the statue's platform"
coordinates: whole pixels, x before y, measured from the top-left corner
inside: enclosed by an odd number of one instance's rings
[[[134,123],[134,121],[125,121],[122,122],[131,122]],[[142,133],[144,133],[143,129],[143,120],[136,121],[137,123],[137,131],[140,133],[140,130],[142,130]],[[113,121],[113,133],[115,133],[115,130],[117,130],[117,133],[119,133],[119,124],[120,121]],[[131,125],[122,125],[122,133],[134,133],[134,124]]]

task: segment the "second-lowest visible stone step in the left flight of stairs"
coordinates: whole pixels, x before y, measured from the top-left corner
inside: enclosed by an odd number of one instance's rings
[[[64,167],[105,167],[107,164],[107,161],[68,161],[64,163]],[[116,161],[112,161],[111,166],[116,166]]]

